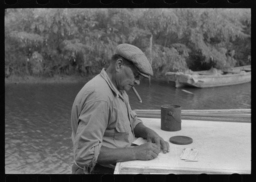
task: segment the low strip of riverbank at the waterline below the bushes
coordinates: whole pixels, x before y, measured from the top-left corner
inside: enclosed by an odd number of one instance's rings
[[[95,75],[89,76],[79,76],[79,75],[55,75],[54,77],[33,77],[33,76],[16,76],[11,75],[5,78],[5,83],[81,83],[88,82],[90,79],[95,77]],[[141,80],[147,80],[147,78],[141,78]],[[151,78],[152,81],[166,81],[166,78]]]

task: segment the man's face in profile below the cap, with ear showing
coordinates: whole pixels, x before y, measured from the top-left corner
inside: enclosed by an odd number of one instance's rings
[[[140,74],[134,65],[123,65],[120,69],[119,89],[129,91],[132,86],[140,84]]]

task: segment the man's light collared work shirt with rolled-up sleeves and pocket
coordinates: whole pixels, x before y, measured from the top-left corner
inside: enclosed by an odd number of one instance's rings
[[[140,122],[130,107],[127,93],[115,88],[103,68],[99,75],[84,85],[72,106],[75,163],[84,172],[90,172],[102,145],[130,147],[135,137],[133,129]],[[114,165],[103,166],[113,168]]]

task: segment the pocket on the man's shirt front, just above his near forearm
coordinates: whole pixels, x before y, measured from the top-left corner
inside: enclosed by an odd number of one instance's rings
[[[128,147],[129,142],[129,122],[118,120],[115,126],[114,142],[117,147]],[[130,125],[130,124],[129,124]]]

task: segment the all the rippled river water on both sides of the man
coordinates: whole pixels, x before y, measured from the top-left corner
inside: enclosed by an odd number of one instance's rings
[[[70,174],[73,164],[70,112],[84,83],[5,84],[5,173]],[[251,83],[214,88],[175,88],[147,80],[128,92],[132,109],[250,109]],[[182,89],[193,92],[188,94]]]

